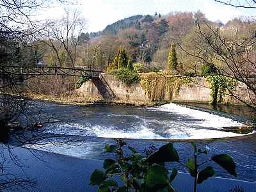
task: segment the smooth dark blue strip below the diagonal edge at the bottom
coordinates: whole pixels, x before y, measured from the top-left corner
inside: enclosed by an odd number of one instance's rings
[[[21,147],[9,147],[12,150],[12,154],[19,158],[19,161],[8,159],[10,158],[10,155],[8,155],[9,151],[4,145],[4,154],[6,160],[9,160],[4,163],[5,173],[7,171],[15,175],[16,178],[25,179],[30,181],[30,183],[27,182],[26,186],[13,186],[8,190],[97,191],[95,186],[89,185],[90,175],[96,168],[102,170],[103,161],[79,159],[40,150],[28,150]],[[193,178],[188,173],[179,172],[177,178],[173,180],[173,186],[177,191],[191,191],[193,189]],[[244,191],[255,191],[256,183],[212,177],[203,184],[198,185],[198,192],[229,191],[238,186],[244,189]]]

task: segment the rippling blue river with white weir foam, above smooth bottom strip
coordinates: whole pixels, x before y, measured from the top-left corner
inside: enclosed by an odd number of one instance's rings
[[[164,104],[152,108],[122,106],[68,106],[51,102],[33,102],[40,110],[44,124],[39,133],[76,137],[70,142],[51,144],[45,140],[40,145],[29,145],[40,150],[82,159],[104,159],[104,145],[115,143],[112,138],[124,138],[128,145],[143,153],[150,144],[160,147],[170,141],[174,143],[184,163],[192,156],[189,141],[196,140],[198,147],[206,148],[207,155],[230,154],[236,161],[238,179],[256,181],[256,136],[221,131],[222,127],[240,126],[251,122],[244,116],[231,115],[210,109],[189,108],[180,104]],[[34,114],[34,116],[39,116]],[[39,118],[39,117],[38,117]],[[241,137],[242,136],[242,137]],[[218,138],[217,140],[204,140]],[[220,139],[221,138],[221,139]],[[177,141],[181,140],[181,141]],[[27,145],[28,147],[28,145]],[[127,151],[125,151],[127,152]],[[219,166],[214,165],[216,176],[232,178]],[[179,164],[170,164],[187,172]]]

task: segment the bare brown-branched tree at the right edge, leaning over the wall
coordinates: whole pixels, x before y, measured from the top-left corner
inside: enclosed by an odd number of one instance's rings
[[[179,44],[180,49],[189,56],[200,59],[202,63],[212,64],[218,74],[236,79],[241,90],[247,92],[249,99],[242,95],[232,94],[240,102],[256,107],[256,38],[255,22],[244,22],[247,26],[243,33],[227,35],[225,28],[202,22],[197,24],[195,30],[195,43],[193,49]],[[252,26],[252,28],[250,28]],[[185,48],[186,47],[186,48]]]

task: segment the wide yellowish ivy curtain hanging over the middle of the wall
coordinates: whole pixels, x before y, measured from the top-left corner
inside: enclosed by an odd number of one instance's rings
[[[172,94],[179,94],[180,86],[192,81],[191,77],[170,76],[167,73],[150,72],[141,74],[140,84],[148,98],[152,101],[164,100],[166,93],[168,99],[172,99]]]

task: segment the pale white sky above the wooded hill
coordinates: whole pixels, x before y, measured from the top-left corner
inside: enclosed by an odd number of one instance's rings
[[[243,1],[243,0],[241,0]],[[214,0],[81,0],[72,6],[81,10],[87,20],[87,32],[102,31],[108,24],[132,15],[166,15],[170,12],[205,13],[207,19],[226,23],[239,16],[252,16],[253,10],[233,8],[214,2]],[[255,10],[254,10],[255,11]],[[57,17],[63,7],[47,11],[47,17]]]

